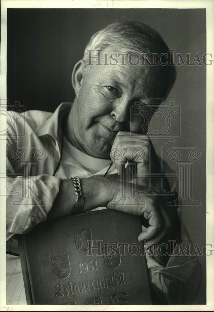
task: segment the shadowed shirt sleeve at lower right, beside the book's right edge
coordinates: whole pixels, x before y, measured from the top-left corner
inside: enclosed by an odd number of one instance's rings
[[[166,266],[146,252],[153,304],[193,304],[196,298],[202,270],[184,228],[181,236]]]

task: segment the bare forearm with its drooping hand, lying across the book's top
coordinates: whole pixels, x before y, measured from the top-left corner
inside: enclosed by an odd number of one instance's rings
[[[95,207],[107,207],[121,212],[142,216],[148,220],[148,228],[139,233],[139,241],[146,240],[147,246],[172,238],[169,233],[174,230],[178,222],[177,210],[166,208],[161,204],[159,194],[152,190],[142,195],[145,187],[132,183],[123,183],[121,196],[121,181],[119,179],[102,176],[92,176],[81,179],[82,191],[85,198],[83,212]],[[133,196],[130,196],[133,192]],[[62,180],[59,194],[53,204],[48,218],[66,216],[73,212],[76,194],[72,180]]]

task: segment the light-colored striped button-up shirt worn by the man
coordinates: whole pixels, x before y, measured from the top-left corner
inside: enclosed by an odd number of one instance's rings
[[[88,178],[104,174],[111,161],[86,155],[63,138],[61,120],[69,114],[71,103],[62,103],[54,113],[31,110],[8,112],[7,126],[7,250],[18,252],[16,234],[28,232],[45,221],[59,192],[61,179]],[[116,175],[111,166],[108,174]],[[102,209],[98,207],[97,209]],[[182,231],[182,244],[189,243]],[[174,249],[176,255],[177,246]],[[191,303],[196,293],[196,261],[193,256],[169,257],[166,267],[147,254],[147,266],[154,302]],[[191,278],[194,285],[191,285]],[[185,293],[184,293],[185,290]],[[177,300],[177,301],[176,301]],[[26,304],[20,259],[7,255],[7,304]]]

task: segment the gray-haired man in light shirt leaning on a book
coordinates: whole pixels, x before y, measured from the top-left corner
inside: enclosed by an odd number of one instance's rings
[[[158,100],[166,99],[175,79],[174,67],[153,63],[167,51],[158,33],[143,23],[115,22],[92,36],[83,59],[75,65],[72,105],[62,103],[53,114],[8,114],[8,251],[14,253],[17,234],[48,218],[97,207],[139,215],[144,223],[148,221],[138,240],[148,247],[153,302],[187,302],[181,289],[194,261],[149,256],[153,244],[173,240],[176,248],[181,241],[180,223],[177,210],[159,196],[162,187],[154,174],[160,172],[160,163],[143,130],[146,121],[143,128],[142,114],[132,112],[133,105],[145,113],[148,101],[156,109]],[[165,57],[171,63],[167,53]],[[121,171],[128,172],[131,162],[137,175],[129,175],[125,192],[134,184],[134,197],[120,198]],[[72,177],[79,177],[81,193]],[[168,183],[164,188],[169,189]],[[20,304],[12,299],[7,303]]]

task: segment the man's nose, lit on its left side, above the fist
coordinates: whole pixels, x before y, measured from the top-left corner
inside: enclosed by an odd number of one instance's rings
[[[111,117],[118,122],[129,121],[130,119],[130,100],[127,98],[114,101]]]

